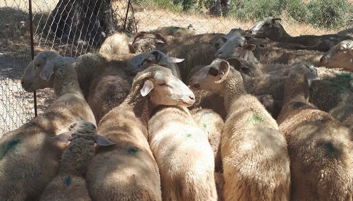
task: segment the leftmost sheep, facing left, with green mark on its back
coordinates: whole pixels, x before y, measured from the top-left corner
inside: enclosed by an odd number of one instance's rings
[[[50,142],[67,121],[96,123],[80,90],[76,70],[55,52],[35,56],[22,77],[22,88],[54,88],[55,101],[47,111],[0,139],[0,200],[37,200],[55,176],[65,145]],[[41,80],[46,80],[42,82]]]

